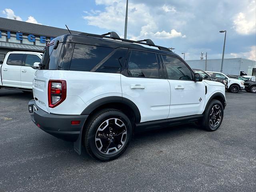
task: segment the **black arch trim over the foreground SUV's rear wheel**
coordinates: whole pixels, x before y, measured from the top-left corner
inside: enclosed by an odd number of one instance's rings
[[[138,109],[138,107],[136,106],[136,104],[134,104],[134,102],[132,102],[131,100],[121,97],[121,96],[108,96],[108,97],[104,97],[104,98],[100,98],[94,102],[92,102],[91,104],[89,104],[81,113],[81,115],[88,115],[91,112],[93,112],[96,108],[104,105],[104,104],[110,104],[110,103],[122,103],[125,104],[127,106],[129,106],[133,111],[134,111],[134,118],[135,118],[135,122],[139,123],[140,122],[140,111]]]

